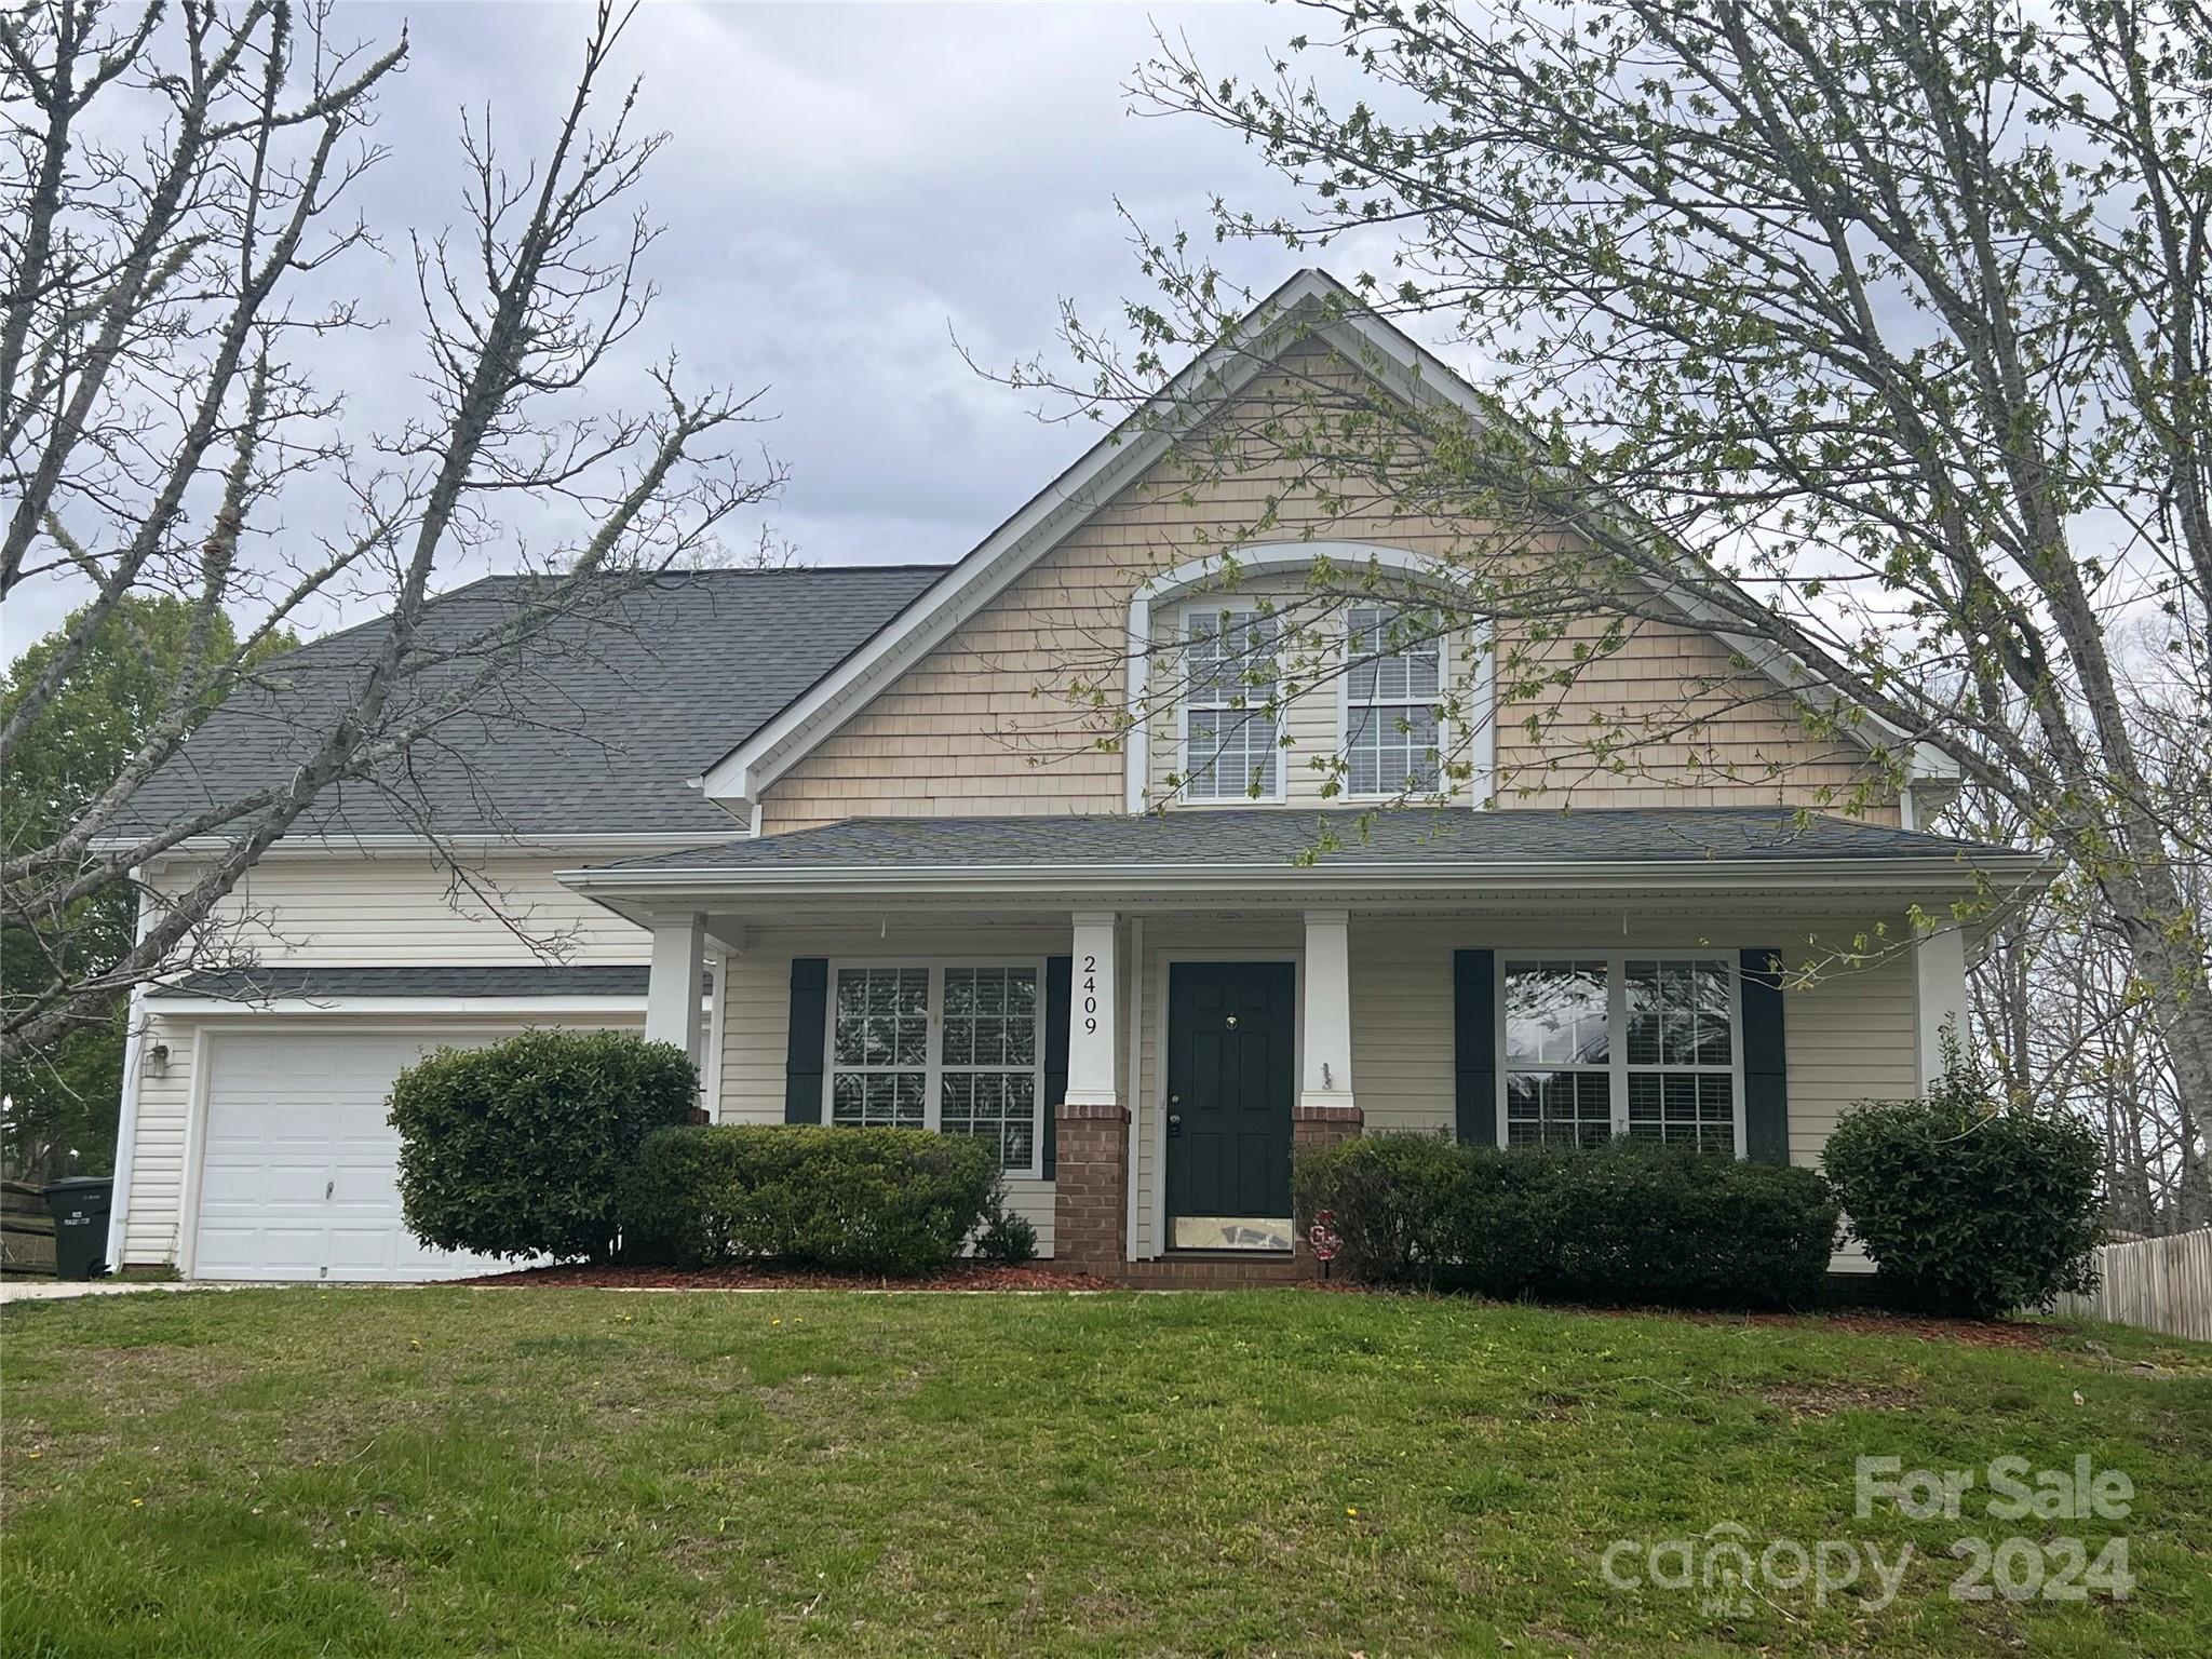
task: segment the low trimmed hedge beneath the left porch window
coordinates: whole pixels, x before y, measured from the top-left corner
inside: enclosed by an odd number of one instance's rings
[[[949,1265],[998,1194],[998,1159],[922,1128],[714,1124],[648,1137],[622,1183],[624,1259],[785,1261],[872,1274]]]

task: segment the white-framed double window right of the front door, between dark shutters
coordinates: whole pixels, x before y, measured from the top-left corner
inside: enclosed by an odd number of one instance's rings
[[[1502,962],[1506,1146],[1615,1135],[1739,1152],[1741,1042],[1728,956],[1575,953]]]

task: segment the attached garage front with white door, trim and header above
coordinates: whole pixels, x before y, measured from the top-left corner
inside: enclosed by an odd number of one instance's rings
[[[385,1121],[392,1079],[440,1044],[635,1026],[644,1013],[641,967],[310,969],[188,987],[190,1002],[159,1004],[161,1082],[184,1095],[170,1214],[188,1279],[407,1283],[511,1265],[407,1232],[400,1146]],[[142,1234],[157,1225],[150,1175],[117,1181],[135,1194]]]

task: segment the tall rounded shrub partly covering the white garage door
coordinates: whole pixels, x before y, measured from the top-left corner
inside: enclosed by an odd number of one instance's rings
[[[392,1084],[407,1228],[438,1250],[604,1259],[639,1141],[697,1091],[681,1048],[622,1031],[438,1048]]]

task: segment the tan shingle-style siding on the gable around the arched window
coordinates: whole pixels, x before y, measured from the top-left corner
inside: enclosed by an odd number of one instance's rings
[[[1248,394],[1256,411],[1270,400],[1281,407],[1279,385]],[[1287,471],[1190,480],[1168,462],[1152,467],[763,790],[763,832],[869,814],[1119,812],[1113,719],[1126,703],[1128,604],[1144,582],[1237,544],[1263,513],[1270,544],[1365,542],[1438,560],[1480,533],[1354,495],[1356,511],[1332,513]],[[1571,661],[1595,633],[1575,628],[1548,655]],[[1500,648],[1511,653],[1513,637]],[[1323,697],[1314,719],[1334,728],[1334,688]],[[1595,763],[1593,739],[1617,730],[1637,739],[1632,752]],[[1327,737],[1316,726],[1301,741]],[[1856,750],[1807,737],[1787,701],[1739,672],[1717,639],[1663,624],[1635,626],[1573,686],[1500,708],[1495,759],[1504,807],[1838,810],[1867,774]],[[1865,816],[1896,823],[1896,803],[1882,796]]]

